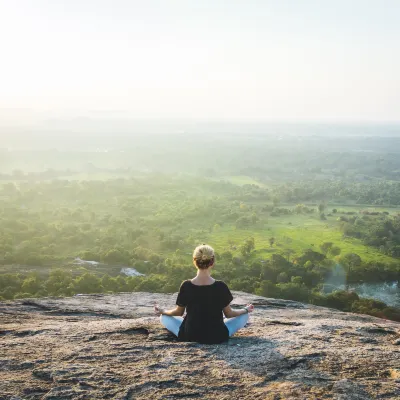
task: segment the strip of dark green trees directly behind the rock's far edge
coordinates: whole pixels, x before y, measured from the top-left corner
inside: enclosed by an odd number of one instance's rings
[[[53,269],[48,276],[41,277],[37,273],[29,273],[25,277],[21,274],[0,274],[0,287],[5,288],[1,299],[19,299],[42,296],[71,296],[79,293],[115,293],[127,291],[139,292],[173,292],[175,283],[193,275],[187,268],[172,268],[173,275],[168,278],[161,274],[152,274],[148,277],[111,277],[108,274],[97,276],[94,273],[83,272],[73,276],[70,271]],[[218,277],[220,273],[216,273]],[[262,276],[264,277],[263,273]],[[286,273],[278,274],[278,282],[287,281]],[[400,322],[398,308],[389,307],[385,303],[373,299],[360,298],[355,292],[334,291],[322,295],[317,290],[311,290],[300,276],[292,276],[290,281],[273,284],[271,280],[233,279],[230,286],[235,290],[245,290],[261,296],[286,298],[309,302],[315,305],[338,308],[362,314],[374,315],[381,318]],[[225,279],[226,280],[226,279]],[[227,281],[227,280],[226,280]]]

